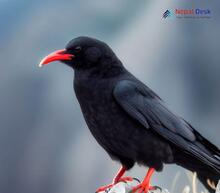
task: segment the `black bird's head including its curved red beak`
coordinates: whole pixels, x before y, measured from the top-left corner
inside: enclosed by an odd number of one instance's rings
[[[121,65],[106,43],[90,37],[78,37],[71,40],[65,49],[46,56],[39,66],[57,60],[79,70]]]

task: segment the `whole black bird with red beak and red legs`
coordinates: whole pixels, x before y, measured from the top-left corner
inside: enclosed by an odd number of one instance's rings
[[[98,192],[131,180],[123,175],[139,163],[150,169],[133,191],[146,193],[153,188],[150,178],[154,170],[175,163],[197,172],[214,193],[220,178],[220,150],[128,72],[107,44],[78,37],[45,57],[40,66],[57,60],[74,69],[74,90],[91,133],[122,164],[112,184]]]

